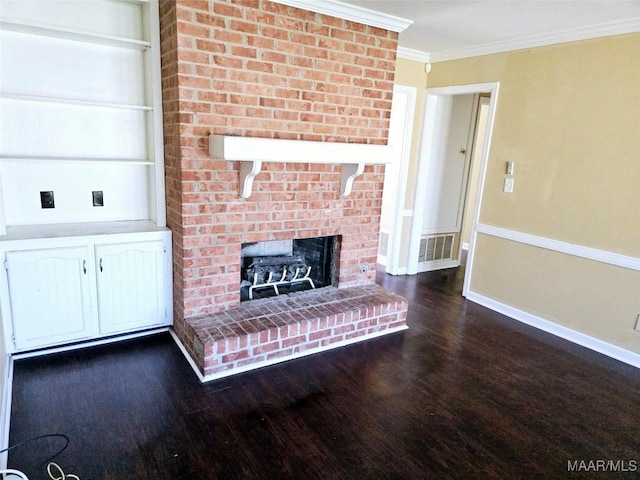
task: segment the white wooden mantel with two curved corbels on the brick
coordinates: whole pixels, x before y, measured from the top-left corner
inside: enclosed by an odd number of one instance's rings
[[[394,149],[387,145],[365,143],[316,142],[278,138],[209,135],[211,158],[240,162],[240,195],[249,198],[253,179],[264,162],[324,163],[342,165],[340,195],[351,193],[353,181],[365,165],[382,165],[393,161]]]

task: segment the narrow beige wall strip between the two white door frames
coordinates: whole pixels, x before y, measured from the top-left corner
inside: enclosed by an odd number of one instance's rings
[[[398,58],[396,61],[395,80],[396,85],[405,85],[417,88],[416,108],[413,121],[413,135],[411,137],[411,155],[407,175],[407,190],[404,208],[413,208],[413,199],[416,189],[416,177],[418,173],[418,158],[420,155],[420,142],[422,141],[422,124],[424,117],[424,101],[426,97],[427,74],[424,71],[424,62]],[[411,219],[402,220],[402,236],[400,242],[399,267],[407,266],[409,253],[409,241],[411,240]]]

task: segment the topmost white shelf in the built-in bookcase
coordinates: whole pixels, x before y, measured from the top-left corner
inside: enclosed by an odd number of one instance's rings
[[[0,22],[0,30],[8,30],[28,35],[43,35],[63,40],[74,40],[89,42],[110,47],[132,48],[136,50],[146,50],[151,46],[150,42],[133,38],[114,37],[110,35],[99,35],[82,30],[71,28],[49,27],[46,25],[36,25],[23,22]]]

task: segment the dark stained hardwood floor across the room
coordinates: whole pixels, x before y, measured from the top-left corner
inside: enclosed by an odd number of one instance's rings
[[[640,370],[378,272],[410,330],[199,384],[168,334],[15,363],[10,443],[81,480],[638,478]],[[30,479],[62,445],[13,450]]]

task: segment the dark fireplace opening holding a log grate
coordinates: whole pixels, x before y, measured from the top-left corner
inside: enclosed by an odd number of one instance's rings
[[[337,284],[338,237],[243,243],[240,301]]]

